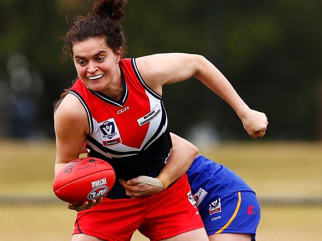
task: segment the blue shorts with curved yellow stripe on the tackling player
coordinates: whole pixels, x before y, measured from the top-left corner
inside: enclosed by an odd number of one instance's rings
[[[252,234],[252,240],[255,240],[261,218],[255,193],[243,191],[221,197],[207,195],[198,210],[208,235],[243,233]]]

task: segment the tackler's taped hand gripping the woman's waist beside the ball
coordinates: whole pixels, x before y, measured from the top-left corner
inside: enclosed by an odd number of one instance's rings
[[[150,196],[163,191],[163,184],[158,178],[139,176],[127,182],[123,179],[118,181],[125,188],[126,195],[131,198]]]

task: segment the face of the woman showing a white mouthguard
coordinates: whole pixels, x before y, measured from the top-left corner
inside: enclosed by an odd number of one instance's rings
[[[78,76],[89,89],[107,95],[121,79],[118,67],[120,56],[121,48],[115,53],[104,38],[91,38],[73,46]]]

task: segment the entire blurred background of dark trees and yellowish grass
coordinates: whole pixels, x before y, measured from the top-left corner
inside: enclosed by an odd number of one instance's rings
[[[76,76],[61,37],[91,3],[0,1],[0,240],[70,240],[75,212],[52,193],[52,106]],[[321,0],[128,0],[124,10],[127,57],[202,54],[267,114],[253,140],[198,80],[163,89],[170,130],[256,191],[258,240],[321,240]]]

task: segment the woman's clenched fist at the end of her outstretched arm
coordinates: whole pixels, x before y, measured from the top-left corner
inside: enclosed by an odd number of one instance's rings
[[[264,113],[249,109],[241,117],[241,121],[245,130],[252,138],[264,137],[268,126],[268,119]]]

